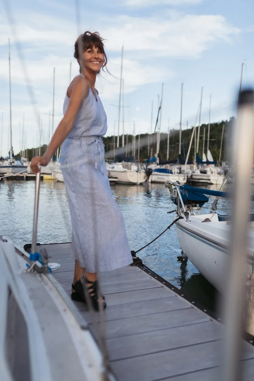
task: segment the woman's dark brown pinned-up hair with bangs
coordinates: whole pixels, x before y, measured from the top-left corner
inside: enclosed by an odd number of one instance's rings
[[[104,42],[105,40],[101,38],[98,32],[89,32],[88,30],[78,36],[77,41],[75,42],[75,51],[74,51],[74,57],[77,59],[77,61],[80,59],[81,54],[85,50],[92,49],[93,46],[101,50],[101,52],[104,55],[104,64],[102,65],[102,69],[104,66],[107,65],[107,55],[105,53],[104,49]]]

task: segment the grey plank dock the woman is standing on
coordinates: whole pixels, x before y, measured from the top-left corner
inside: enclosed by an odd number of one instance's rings
[[[49,262],[61,267],[52,274],[68,295],[73,280],[70,243],[41,245]],[[218,379],[221,328],[204,311],[185,300],[156,274],[128,266],[101,275],[106,345],[110,366],[119,381],[212,381]],[[173,288],[173,290],[171,289]],[[85,304],[75,303],[95,333]],[[99,322],[99,314],[94,314]],[[96,333],[95,333],[96,334]],[[244,343],[244,381],[254,374],[254,347]]]

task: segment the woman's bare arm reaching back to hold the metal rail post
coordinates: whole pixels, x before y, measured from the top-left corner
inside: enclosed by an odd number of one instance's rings
[[[73,83],[73,86],[71,88],[69,106],[67,107],[64,117],[62,118],[56,131],[54,132],[54,135],[52,136],[52,139],[50,141],[50,144],[48,145],[45,154],[42,157],[35,156],[30,163],[30,168],[34,173],[38,173],[38,165],[46,166],[50,162],[50,159],[53,156],[54,152],[56,152],[58,147],[61,146],[66,136],[72,130],[72,126],[77,117],[81,103],[83,99],[88,96],[89,87],[90,86],[88,80],[81,76],[77,77],[77,79]]]

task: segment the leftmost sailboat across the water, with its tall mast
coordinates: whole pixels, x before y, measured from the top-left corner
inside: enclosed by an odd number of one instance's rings
[[[12,131],[11,131],[11,56],[10,56],[10,38],[8,39],[9,47],[9,85],[10,85],[10,151],[9,156],[5,158],[2,165],[0,165],[0,176],[10,173],[24,173],[27,166],[15,159],[13,146],[12,146]]]

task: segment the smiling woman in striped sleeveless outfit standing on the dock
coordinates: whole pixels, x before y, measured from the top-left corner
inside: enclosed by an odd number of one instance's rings
[[[94,86],[97,74],[107,64],[107,56],[99,34],[81,34],[75,42],[74,57],[80,74],[67,89],[64,117],[46,153],[34,157],[30,167],[37,173],[38,165],[46,166],[62,144],[61,166],[75,259],[71,297],[84,303],[89,297],[98,311],[97,273],[128,266],[133,261],[123,216],[110,189],[100,138],[107,131],[107,117]],[[104,297],[102,303],[105,309]]]

